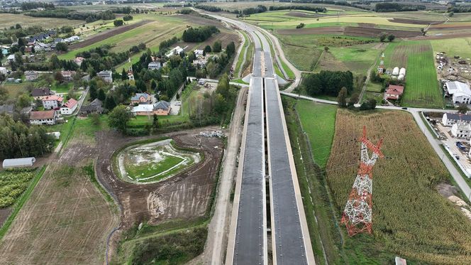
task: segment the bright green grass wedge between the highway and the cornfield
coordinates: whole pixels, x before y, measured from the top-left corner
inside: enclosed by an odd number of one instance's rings
[[[296,110],[302,128],[309,138],[314,161],[321,168],[325,168],[331,153],[337,107],[331,104],[299,100]]]

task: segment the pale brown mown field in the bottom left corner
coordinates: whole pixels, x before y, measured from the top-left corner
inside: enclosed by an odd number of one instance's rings
[[[71,143],[53,159],[0,243],[0,264],[101,264],[116,208],[84,166],[96,148]]]

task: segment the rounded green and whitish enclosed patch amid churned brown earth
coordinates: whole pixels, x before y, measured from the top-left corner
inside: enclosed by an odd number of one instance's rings
[[[150,183],[170,178],[199,163],[199,153],[178,150],[172,140],[129,146],[116,156],[121,178],[133,183]]]

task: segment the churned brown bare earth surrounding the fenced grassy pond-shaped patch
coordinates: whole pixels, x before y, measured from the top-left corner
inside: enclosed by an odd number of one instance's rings
[[[135,185],[116,177],[111,169],[113,152],[136,138],[123,138],[111,132],[99,132],[101,143],[96,175],[107,190],[116,197],[121,207],[120,232],[135,223],[148,222],[157,225],[174,219],[189,219],[203,216],[207,210],[209,198],[214,188],[214,180],[220,158],[223,153],[222,141],[216,138],[199,136],[199,131],[182,131],[170,136],[175,144],[183,148],[194,148],[204,153],[204,160],[188,171],[160,183]],[[111,252],[117,246],[118,234],[113,234]]]

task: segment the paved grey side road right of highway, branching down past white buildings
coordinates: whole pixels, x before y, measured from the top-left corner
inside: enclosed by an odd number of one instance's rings
[[[299,96],[298,94],[294,93],[288,93],[288,92],[280,92],[281,94],[284,94],[288,97],[295,97],[295,98],[300,98],[300,99],[307,99],[311,100],[314,102],[319,102],[319,103],[326,103],[326,104],[337,104],[337,102],[331,101],[331,100],[324,100],[324,99],[316,99],[314,97],[308,97],[308,96]],[[358,104],[355,104],[355,106],[358,107]],[[437,153],[437,155],[440,157],[441,161],[445,164],[446,168],[448,168],[448,171],[450,171],[451,176],[455,180],[455,182],[458,184],[458,187],[462,190],[463,193],[465,193],[466,198],[469,202],[471,202],[471,188],[470,185],[466,183],[465,178],[462,177],[461,173],[456,169],[455,165],[453,164],[452,161],[450,161],[450,158],[446,156],[445,152],[443,151],[442,148],[440,148],[440,142],[438,139],[431,134],[430,131],[427,129],[427,125],[423,122],[420,116],[420,112],[453,112],[450,111],[449,109],[423,109],[423,108],[407,108],[407,109],[402,109],[401,107],[390,107],[390,106],[377,106],[377,109],[394,109],[394,110],[404,110],[406,112],[409,112],[412,114],[412,117],[414,117],[414,120],[416,121],[417,125],[423,132],[423,134],[426,136],[428,142],[430,142],[431,146],[433,147],[433,150]]]

